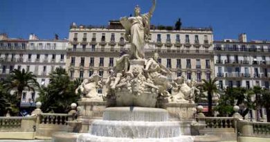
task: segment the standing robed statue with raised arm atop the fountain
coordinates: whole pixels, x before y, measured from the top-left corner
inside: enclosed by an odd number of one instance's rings
[[[150,19],[156,8],[156,0],[149,12],[141,15],[141,8],[136,6],[134,17],[122,17],[120,23],[126,30],[126,40],[132,44],[131,59],[144,59],[145,42],[150,35]]]

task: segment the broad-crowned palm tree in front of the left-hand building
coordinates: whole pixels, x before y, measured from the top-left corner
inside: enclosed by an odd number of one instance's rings
[[[15,89],[17,91],[17,99],[20,102],[21,94],[25,89],[28,91],[35,91],[35,89],[39,88],[36,78],[37,77],[33,75],[32,72],[25,71],[25,69],[22,71],[15,69],[10,73],[10,76],[8,76],[4,87],[8,90]],[[19,103],[17,104],[17,107],[19,107]]]

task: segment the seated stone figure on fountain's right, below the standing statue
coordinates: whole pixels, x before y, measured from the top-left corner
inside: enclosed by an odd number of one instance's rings
[[[161,95],[168,95],[168,91],[166,91],[170,87],[170,82],[168,78],[163,74],[171,74],[170,70],[166,69],[165,66],[158,62],[159,53],[154,53],[154,57],[150,58],[145,66],[145,72],[148,73],[148,77],[154,85],[159,87],[159,93]]]

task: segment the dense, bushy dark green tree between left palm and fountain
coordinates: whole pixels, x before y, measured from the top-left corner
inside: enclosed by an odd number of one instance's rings
[[[71,81],[65,69],[57,68],[50,73],[47,87],[39,89],[38,101],[42,102],[43,112],[67,113],[71,103],[78,101],[80,96],[75,94],[79,80]]]

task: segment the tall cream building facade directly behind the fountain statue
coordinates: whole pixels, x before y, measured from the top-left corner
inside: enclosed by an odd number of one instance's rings
[[[66,70],[71,79],[89,78],[98,73],[105,82],[120,51],[129,52],[130,44],[125,41],[125,30],[120,23],[111,22],[108,27],[71,26],[66,55]],[[159,62],[172,71],[170,79],[184,76],[201,82],[214,76],[211,28],[152,29],[150,33],[145,56],[158,52]]]

